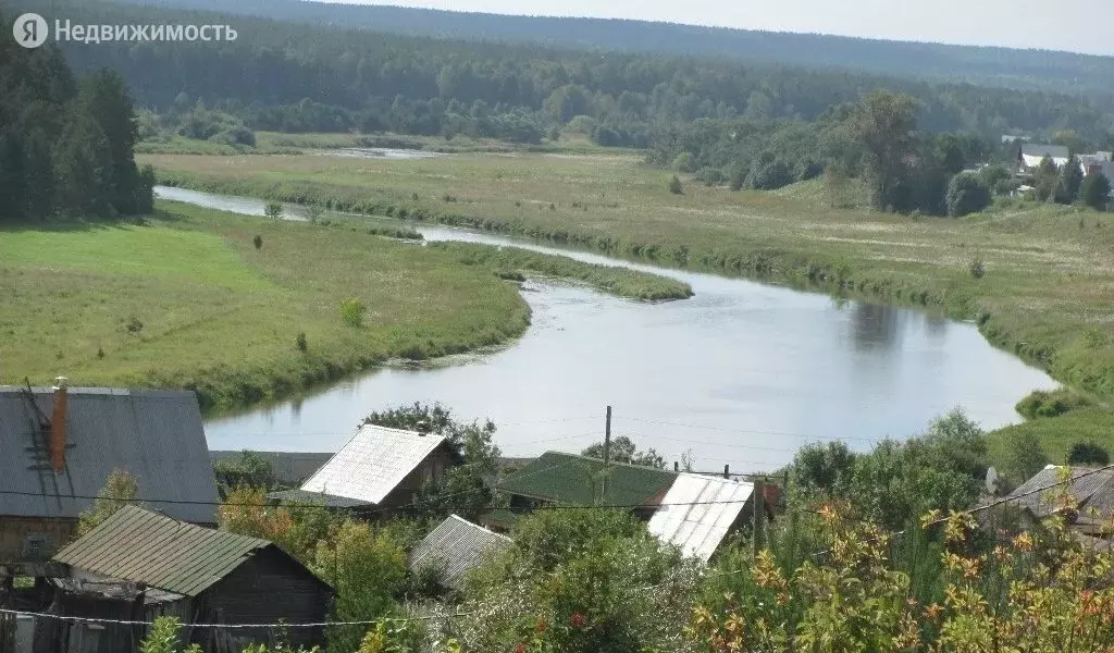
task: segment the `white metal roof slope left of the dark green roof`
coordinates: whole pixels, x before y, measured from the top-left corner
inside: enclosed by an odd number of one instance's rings
[[[302,489],[378,504],[443,441],[443,436],[364,425]]]

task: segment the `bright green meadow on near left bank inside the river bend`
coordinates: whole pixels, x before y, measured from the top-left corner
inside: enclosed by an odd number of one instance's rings
[[[394,357],[506,342],[526,329],[529,308],[497,273],[546,273],[628,296],[691,292],[656,275],[563,257],[492,257],[482,247],[421,246],[368,231],[168,202],[146,226],[7,227],[0,382],[65,374],[80,386],[190,388],[206,408],[222,409]],[[367,305],[362,326],[340,316],[349,298]]]

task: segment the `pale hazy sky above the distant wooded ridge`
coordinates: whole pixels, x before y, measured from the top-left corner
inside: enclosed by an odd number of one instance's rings
[[[344,0],[1114,55],[1114,0]]]

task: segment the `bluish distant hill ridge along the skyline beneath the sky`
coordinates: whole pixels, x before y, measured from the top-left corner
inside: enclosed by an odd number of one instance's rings
[[[152,0],[126,1],[152,3]],[[328,4],[305,0],[154,0],[154,3],[411,36],[759,60],[1095,97],[1108,97],[1114,89],[1114,57],[1047,50],[915,43],[636,20]]]

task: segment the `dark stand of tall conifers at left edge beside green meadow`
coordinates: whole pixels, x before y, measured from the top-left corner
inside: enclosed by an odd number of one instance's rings
[[[75,80],[58,48],[18,46],[0,17],[0,220],[149,213],[136,137],[118,75]]]

